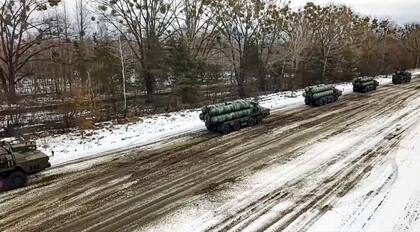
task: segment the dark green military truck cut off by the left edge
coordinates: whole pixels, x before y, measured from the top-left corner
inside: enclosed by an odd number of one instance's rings
[[[35,143],[0,142],[0,190],[23,187],[29,175],[49,167],[49,157],[38,151]]]

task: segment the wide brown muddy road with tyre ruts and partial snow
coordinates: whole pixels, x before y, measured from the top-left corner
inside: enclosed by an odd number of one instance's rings
[[[189,231],[305,230],[398,146],[418,121],[419,97],[420,81],[382,86],[324,107],[276,111],[225,136],[189,134],[61,166],[0,195],[0,231],[171,230],[162,227],[168,218],[182,218],[186,205],[209,196],[217,202],[213,213],[200,213],[206,223]],[[380,125],[340,149],[311,150],[367,121]],[[217,197],[273,166],[281,167],[275,183]]]

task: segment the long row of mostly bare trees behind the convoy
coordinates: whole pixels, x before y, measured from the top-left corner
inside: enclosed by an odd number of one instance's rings
[[[419,66],[420,24],[344,5],[0,0],[2,103],[59,103],[68,117],[108,103],[194,106]]]

